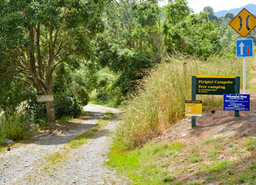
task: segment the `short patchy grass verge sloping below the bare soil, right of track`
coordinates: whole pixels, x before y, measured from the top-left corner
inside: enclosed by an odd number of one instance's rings
[[[149,142],[133,150],[120,145],[112,145],[107,165],[127,176],[129,184],[256,184],[253,136],[216,138],[192,146]]]

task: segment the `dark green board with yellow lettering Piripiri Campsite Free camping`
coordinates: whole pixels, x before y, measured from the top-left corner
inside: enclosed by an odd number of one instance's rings
[[[196,94],[235,94],[236,77],[196,76]]]

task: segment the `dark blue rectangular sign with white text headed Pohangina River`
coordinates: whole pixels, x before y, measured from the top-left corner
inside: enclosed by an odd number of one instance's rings
[[[250,111],[250,94],[224,94],[224,111]]]

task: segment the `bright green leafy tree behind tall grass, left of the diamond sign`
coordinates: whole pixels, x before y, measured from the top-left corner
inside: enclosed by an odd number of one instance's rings
[[[181,52],[203,60],[215,55],[220,48],[220,30],[217,23],[208,21],[205,13],[191,14],[166,30],[167,52]]]

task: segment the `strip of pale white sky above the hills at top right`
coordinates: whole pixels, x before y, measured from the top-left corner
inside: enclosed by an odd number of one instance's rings
[[[188,6],[194,13],[203,11],[203,8],[210,6],[214,12],[240,8],[247,4],[256,4],[255,0],[187,0]]]

